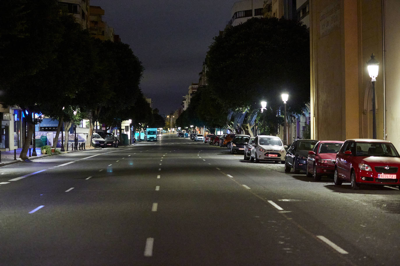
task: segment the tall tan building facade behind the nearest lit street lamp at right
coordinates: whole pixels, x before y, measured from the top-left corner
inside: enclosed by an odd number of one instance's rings
[[[379,65],[377,138],[400,148],[400,24],[397,0],[310,1],[312,136],[372,138],[372,83],[366,62]]]

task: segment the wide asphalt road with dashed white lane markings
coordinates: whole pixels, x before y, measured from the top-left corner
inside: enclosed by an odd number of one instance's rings
[[[400,191],[164,134],[0,167],[0,265],[399,265]]]

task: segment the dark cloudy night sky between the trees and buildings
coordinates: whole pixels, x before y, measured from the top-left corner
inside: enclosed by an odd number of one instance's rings
[[[141,89],[160,114],[178,109],[238,0],[90,0],[145,67]]]

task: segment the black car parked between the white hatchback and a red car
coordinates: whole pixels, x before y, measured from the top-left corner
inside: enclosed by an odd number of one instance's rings
[[[312,150],[318,140],[295,140],[290,145],[285,157],[285,172],[290,172],[293,168],[294,173],[307,171],[308,152]]]

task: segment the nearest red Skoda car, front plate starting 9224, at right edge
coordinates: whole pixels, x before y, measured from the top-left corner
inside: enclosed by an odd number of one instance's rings
[[[360,184],[398,185],[400,156],[387,140],[346,140],[336,155],[335,185],[350,182],[352,189]]]

